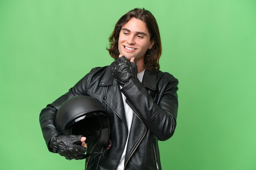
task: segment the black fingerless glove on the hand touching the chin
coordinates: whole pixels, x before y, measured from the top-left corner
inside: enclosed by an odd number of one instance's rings
[[[122,87],[137,78],[137,72],[136,61],[129,62],[124,56],[116,59],[112,65],[112,75]]]

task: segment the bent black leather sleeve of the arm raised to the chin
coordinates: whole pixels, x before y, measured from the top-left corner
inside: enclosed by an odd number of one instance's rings
[[[165,74],[157,80],[154,98],[137,78],[121,89],[139,118],[159,140],[169,139],[175,131],[178,109],[177,85],[176,78],[171,74]]]

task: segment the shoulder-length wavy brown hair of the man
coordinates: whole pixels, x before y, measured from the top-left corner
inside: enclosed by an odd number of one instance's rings
[[[121,31],[121,27],[126,24],[132,17],[135,17],[139,20],[142,20],[147,28],[148,32],[150,33],[150,41],[155,41],[153,47],[151,49],[148,49],[145,54],[144,59],[144,65],[147,70],[159,70],[159,58],[162,54],[162,44],[160,39],[160,33],[159,28],[157,25],[157,21],[155,20],[155,17],[153,14],[143,9],[135,8],[125,15],[123,15],[116,23],[114,31],[109,37],[109,45],[110,48],[107,48],[110,56],[114,59],[117,59],[119,56],[119,50],[118,50],[118,39],[119,39],[119,33]]]

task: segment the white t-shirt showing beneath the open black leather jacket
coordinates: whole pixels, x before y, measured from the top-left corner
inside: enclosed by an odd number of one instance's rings
[[[140,82],[142,82],[143,76],[144,76],[144,72],[140,72],[137,74],[137,78],[139,79]],[[120,86],[120,88],[122,88]],[[126,155],[126,149],[127,149],[127,143],[128,143],[128,139],[129,139],[129,135],[130,135],[130,129],[131,129],[131,125],[132,125],[132,117],[133,117],[133,111],[130,108],[130,106],[126,103],[126,96],[124,96],[124,94],[122,93],[122,97],[123,97],[123,102],[124,102],[124,110],[125,110],[125,114],[126,114],[126,123],[127,123],[127,127],[128,127],[128,138],[126,140],[126,145],[124,147],[124,152],[122,154],[122,157],[120,159],[119,165],[117,167],[117,170],[124,170],[124,159],[125,159],[125,155]]]

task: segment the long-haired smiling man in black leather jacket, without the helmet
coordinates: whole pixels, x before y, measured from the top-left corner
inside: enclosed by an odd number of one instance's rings
[[[41,111],[40,125],[48,149],[56,153],[60,150],[56,143],[72,142],[56,130],[55,115],[68,98],[86,95],[105,107],[112,147],[104,155],[88,157],[85,169],[161,170],[158,140],[167,140],[174,133],[178,81],[159,71],[162,46],[155,17],[145,9],[129,11],[117,21],[109,41],[107,50],[115,61],[92,69]],[[97,142],[86,145],[86,138],[78,137],[87,153],[103,151]]]

